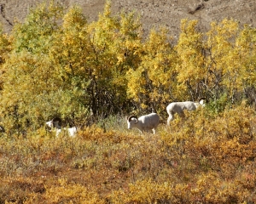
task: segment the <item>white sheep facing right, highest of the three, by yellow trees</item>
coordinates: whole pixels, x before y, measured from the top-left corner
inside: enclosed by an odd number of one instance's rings
[[[172,102],[167,105],[166,111],[169,115],[167,119],[167,125],[170,125],[170,122],[174,120],[174,115],[177,113],[178,116],[184,117],[184,110],[195,111],[199,106],[204,107],[207,99],[201,98],[198,102],[193,101],[183,101],[183,102]]]

